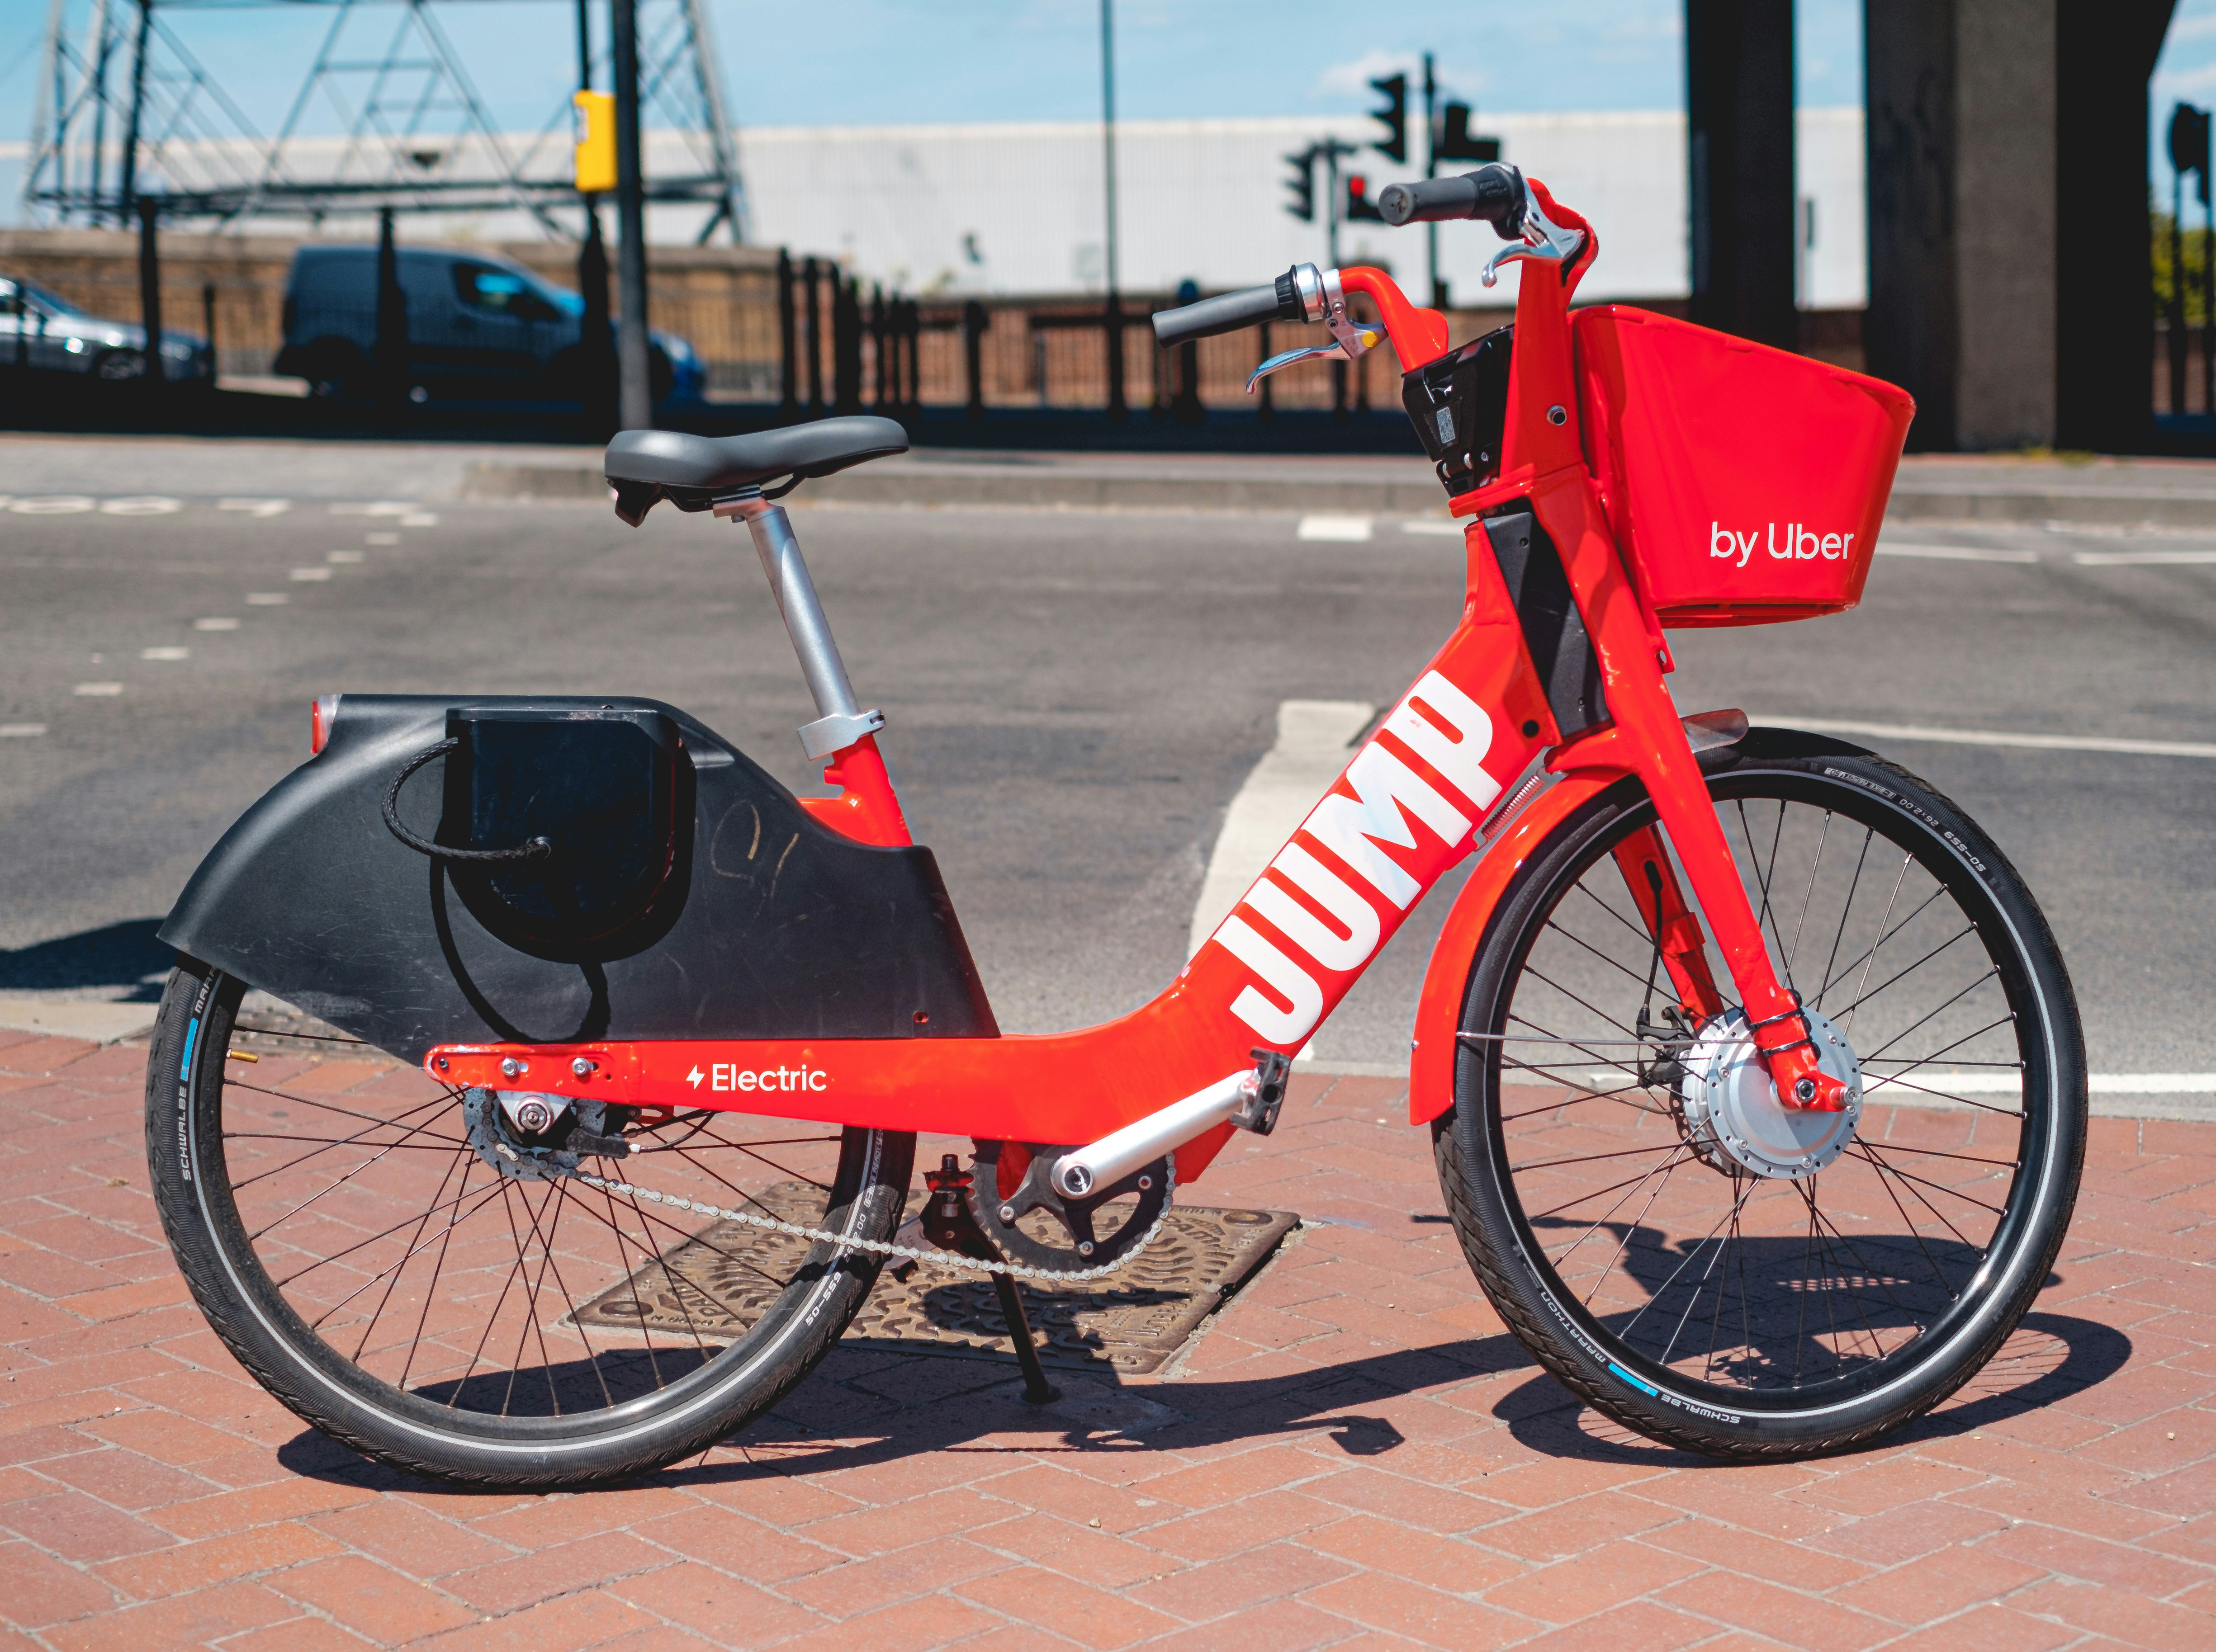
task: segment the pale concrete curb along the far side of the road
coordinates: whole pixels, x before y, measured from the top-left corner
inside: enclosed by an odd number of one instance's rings
[[[1272,467],[1274,469],[1274,467]],[[1895,523],[2076,523],[2085,527],[2216,529],[2216,492],[2134,487],[2083,489],[1892,489]],[[605,500],[607,483],[587,465],[479,463],[463,472],[461,498]],[[1256,469],[1250,476],[1177,474],[1170,467],[893,463],[809,483],[807,500],[835,505],[1013,505],[1030,509],[1170,512],[1358,512],[1443,516],[1429,478],[1301,476]]]

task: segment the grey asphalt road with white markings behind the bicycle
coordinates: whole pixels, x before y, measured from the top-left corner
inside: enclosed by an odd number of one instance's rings
[[[0,512],[0,992],[137,990],[151,921],[306,757],[315,693],[658,695],[809,784],[793,729],[811,709],[740,529],[441,503],[448,458],[397,450],[286,456],[0,443],[0,489],[16,489]],[[93,505],[40,505],[64,487]],[[155,487],[168,503],[100,507]],[[361,512],[379,500],[381,514]],[[1292,514],[793,516],[1010,1030],[1077,1025],[1159,990],[1276,704],[1389,702],[1458,611],[1458,543],[1396,520],[1369,543],[1303,543]],[[2212,740],[2216,565],[2074,556],[2216,551],[2216,538],[1917,525],[1912,540],[2039,560],[1888,556],[1850,616],[1680,631],[1678,702]],[[2023,870],[2076,977],[2099,1072],[2216,1070],[2216,762],[1870,744],[1963,804]],[[1319,1056],[1405,1052],[1443,895],[1323,1030]]]

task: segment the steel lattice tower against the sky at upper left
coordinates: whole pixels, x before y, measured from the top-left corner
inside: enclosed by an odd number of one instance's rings
[[[572,27],[576,0],[510,2]],[[270,133],[179,27],[193,13],[255,7],[330,18]],[[718,226],[742,241],[747,195],[707,4],[636,7],[643,124],[685,144],[680,171],[649,175],[645,195],[707,206],[700,241]],[[501,133],[437,11],[437,0],[51,0],[24,208],[49,224],[117,226],[142,199],[166,221],[208,226],[379,208],[523,210],[574,233],[554,215],[576,202],[567,93],[534,135]],[[603,86],[605,47],[603,31]],[[250,69],[268,73],[268,58],[257,53]]]

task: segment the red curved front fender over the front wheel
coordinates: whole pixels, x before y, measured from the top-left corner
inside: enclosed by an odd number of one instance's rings
[[[1731,746],[1700,753],[1704,773],[1728,773],[1742,762],[1857,755],[1868,757],[1866,746],[1848,744],[1830,735],[1813,735],[1802,729],[1748,729]],[[1432,948],[1432,963],[1423,974],[1423,997],[1416,1001],[1416,1034],[1407,1063],[1407,1121],[1427,1125],[1454,1105],[1454,1054],[1463,1030],[1463,992],[1469,985],[1469,966],[1485,946],[1494,908],[1507,892],[1509,881],[1538,853],[1549,833],[1600,797],[1609,786],[1627,779],[1620,768],[1573,768],[1547,791],[1542,791],[1518,815],[1507,833],[1478,859],[1463,892],[1447,912],[1447,923]]]

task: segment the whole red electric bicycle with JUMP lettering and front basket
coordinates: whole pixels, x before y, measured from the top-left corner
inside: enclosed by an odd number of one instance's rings
[[[1002,1036],[776,498],[906,436],[625,432],[616,512],[747,523],[820,717],[793,797],[665,704],[343,695],[195,873],[148,1067],[153,1187],[288,1406],[468,1484],[634,1475],[760,1415],[889,1258],[1112,1276],[1447,868],[1409,1123],[1485,1293],[1658,1439],[1793,1457],[1961,1386],[2061,1245],[2070,979],[1961,810],[1837,740],[1680,715],[1666,629],[1837,613],[1908,399],[1569,301],[1589,224],[1509,166],[1516,323],[1463,348],[1369,268],[1155,317],[1392,341],[1469,518],[1429,667],[1148,1005]],[[1363,295],[1374,319],[1356,319]],[[332,1061],[375,1047],[419,1067]],[[317,1061],[321,1056],[321,1061]],[[917,1132],[968,1136],[909,1214]],[[1022,1346],[1028,1353],[1028,1340]]]

